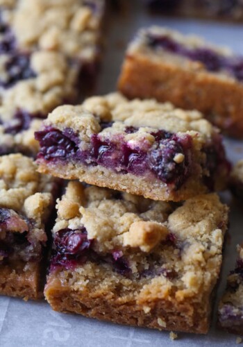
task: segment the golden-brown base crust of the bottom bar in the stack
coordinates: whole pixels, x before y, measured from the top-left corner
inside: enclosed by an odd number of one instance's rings
[[[177,305],[169,301],[157,301],[146,303],[145,307],[133,300],[124,302],[119,296],[112,298],[109,293],[103,291],[79,292],[62,287],[56,273],[51,273],[48,283],[44,294],[53,310],[58,312],[75,312],[102,321],[159,330],[199,334],[208,332],[211,307],[207,296],[201,306],[198,303],[192,305],[190,298],[187,298]]]

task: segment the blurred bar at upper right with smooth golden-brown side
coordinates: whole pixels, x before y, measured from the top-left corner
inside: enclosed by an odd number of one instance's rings
[[[229,135],[242,137],[243,58],[199,37],[141,29],[128,46],[119,90],[196,109]]]

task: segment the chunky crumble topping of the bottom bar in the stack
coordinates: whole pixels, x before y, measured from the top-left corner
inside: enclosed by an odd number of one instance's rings
[[[180,302],[203,295],[217,280],[215,269],[221,264],[228,208],[216,194],[196,196],[178,207],[70,182],[57,208],[53,232],[60,253],[53,259],[67,269],[73,261],[74,277],[68,281],[74,288],[88,287],[87,278],[93,282],[92,273],[97,271],[99,278],[107,278],[106,271],[113,264],[115,272],[105,280],[108,287],[112,288],[119,276],[131,290],[134,287],[137,302],[146,310],[146,301],[153,297],[175,296]],[[72,243],[74,258],[65,260],[61,252],[71,245],[71,238],[77,242]],[[70,252],[71,248],[67,254]],[[81,254],[86,258],[75,252],[85,252]],[[53,269],[58,271],[58,265]]]

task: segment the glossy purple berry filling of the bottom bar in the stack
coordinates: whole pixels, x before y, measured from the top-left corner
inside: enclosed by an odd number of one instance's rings
[[[124,251],[119,249],[114,249],[106,254],[97,253],[94,251],[95,242],[93,239],[87,239],[87,230],[84,226],[75,230],[69,228],[59,230],[53,240],[51,271],[58,271],[58,269],[72,270],[86,262],[93,262],[97,265],[110,266],[112,271],[131,278],[132,269],[129,264],[129,256],[124,255]],[[164,247],[169,247],[171,250],[177,247],[176,237],[172,233],[162,243]],[[149,268],[144,269],[144,266],[139,264],[139,272],[135,273],[136,279],[164,276],[173,280],[178,276],[174,269],[166,268],[160,255],[149,253],[144,257],[149,262]]]

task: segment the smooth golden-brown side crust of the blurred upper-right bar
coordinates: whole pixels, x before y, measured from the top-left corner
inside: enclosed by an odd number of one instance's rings
[[[218,78],[206,71],[190,71],[129,53],[118,87],[131,99],[154,97],[160,102],[171,101],[181,108],[199,110],[229,135],[242,137],[243,86],[232,78]]]

